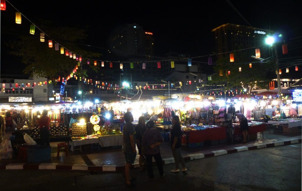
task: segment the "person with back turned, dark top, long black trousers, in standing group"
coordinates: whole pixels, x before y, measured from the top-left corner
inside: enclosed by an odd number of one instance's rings
[[[146,155],[147,161],[147,171],[149,180],[154,179],[153,167],[152,167],[152,158],[154,157],[159,175],[165,177],[163,166],[162,166],[162,157],[160,156],[159,145],[162,144],[162,135],[158,129],[154,127],[153,121],[147,122],[147,130],[143,134],[142,146],[144,148],[144,153]]]

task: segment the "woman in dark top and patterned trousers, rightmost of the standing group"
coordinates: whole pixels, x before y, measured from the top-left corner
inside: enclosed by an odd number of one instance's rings
[[[171,148],[173,157],[175,160],[175,168],[171,172],[179,172],[179,163],[182,163],[182,172],[187,171],[186,164],[182,158],[182,153],[180,148],[182,146],[182,129],[180,127],[179,117],[177,115],[172,117],[172,130],[170,131],[171,135]]]

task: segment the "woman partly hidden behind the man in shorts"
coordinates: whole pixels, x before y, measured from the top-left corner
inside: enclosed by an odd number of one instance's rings
[[[142,169],[142,160],[143,160],[142,139],[143,139],[143,134],[147,129],[146,125],[145,125],[145,121],[146,121],[146,118],[144,116],[140,116],[140,118],[138,118],[138,125],[135,127],[136,145],[138,148],[138,154],[140,154],[140,158],[139,158],[140,172],[143,171],[143,169]]]

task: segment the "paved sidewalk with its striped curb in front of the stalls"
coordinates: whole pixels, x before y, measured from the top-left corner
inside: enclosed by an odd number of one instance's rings
[[[262,135],[260,136],[262,138]],[[9,134],[5,136],[9,138]],[[283,135],[264,132],[264,138],[260,141],[249,141],[238,144],[219,144],[214,146],[203,146],[201,148],[187,148],[182,146],[182,155],[185,161],[216,157],[222,154],[230,154],[240,151],[249,151],[260,148],[269,148],[282,145],[301,143],[301,132],[294,135]],[[26,163],[13,159],[0,161],[0,169],[57,169],[57,170],[89,170],[89,171],[120,171],[124,169],[125,158],[121,148],[101,148],[101,151],[71,152],[66,156],[64,150],[60,150],[57,157],[57,142],[51,143],[51,160],[43,163]],[[164,164],[174,163],[174,158],[169,142],[161,146],[161,156]],[[1,147],[0,147],[1,150]],[[138,167],[137,154],[134,168]]]

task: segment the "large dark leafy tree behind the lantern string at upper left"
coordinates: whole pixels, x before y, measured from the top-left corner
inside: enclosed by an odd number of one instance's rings
[[[51,26],[51,27],[49,27]],[[26,65],[25,74],[37,75],[45,78],[58,78],[70,75],[79,61],[65,56],[65,47],[72,53],[82,55],[82,62],[87,58],[98,58],[101,53],[93,52],[81,46],[87,35],[85,30],[76,27],[53,27],[49,22],[41,26],[43,31],[53,39],[53,47],[48,47],[49,38],[45,35],[45,42],[40,42],[40,31],[34,35],[24,34],[13,42],[8,43],[13,51],[12,54],[21,56],[21,62]],[[64,54],[59,50],[55,51],[55,41],[64,46]],[[95,66],[91,66],[97,72]]]

